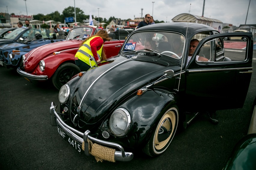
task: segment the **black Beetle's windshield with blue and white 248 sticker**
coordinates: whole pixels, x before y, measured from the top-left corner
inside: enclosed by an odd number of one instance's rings
[[[173,32],[137,32],[123,45],[125,51],[156,51],[174,58],[181,58],[184,49],[184,36]]]

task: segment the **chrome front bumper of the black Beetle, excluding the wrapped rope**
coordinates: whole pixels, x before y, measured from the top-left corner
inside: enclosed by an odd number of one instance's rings
[[[127,162],[127,161],[130,161],[130,160],[133,159],[133,153],[125,152],[121,145],[119,145],[117,143],[107,142],[107,141],[104,141],[104,140],[94,138],[94,137],[90,136],[90,130],[86,130],[84,133],[82,133],[82,132],[70,127],[65,122],[63,122],[63,120],[59,117],[55,108],[56,108],[56,106],[52,102],[51,107],[50,107],[50,122],[51,122],[51,125],[52,126],[57,126],[58,125],[60,128],[62,128],[63,131],[65,131],[73,139],[77,140],[80,143],[84,142],[84,153],[85,153],[85,155],[90,156],[89,145],[88,145],[88,142],[87,142],[87,139],[89,139],[89,140],[91,140],[95,143],[99,143],[99,144],[103,144],[103,145],[118,148],[120,151],[115,151],[115,154],[114,154],[114,158],[115,158],[116,161],[125,161],[125,162]],[[83,138],[81,138],[80,136],[83,136]]]

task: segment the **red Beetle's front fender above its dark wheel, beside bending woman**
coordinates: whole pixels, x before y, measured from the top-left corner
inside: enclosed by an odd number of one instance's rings
[[[45,63],[45,69],[42,73],[43,75],[47,75],[48,78],[51,78],[62,63],[70,62],[75,64],[75,55],[70,53],[62,53],[57,55],[50,55],[43,60]],[[39,69],[39,64],[37,69]],[[40,69],[38,71],[41,72]]]

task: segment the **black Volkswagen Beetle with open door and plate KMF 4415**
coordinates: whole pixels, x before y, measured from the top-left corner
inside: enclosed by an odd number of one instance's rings
[[[225,42],[227,36],[246,41],[238,47]],[[189,59],[192,39],[200,43]],[[97,161],[130,161],[138,148],[158,156],[178,125],[186,127],[199,112],[243,106],[252,52],[251,33],[219,34],[207,25],[182,22],[139,28],[119,55],[61,87],[60,109],[53,102],[50,107],[51,125]]]

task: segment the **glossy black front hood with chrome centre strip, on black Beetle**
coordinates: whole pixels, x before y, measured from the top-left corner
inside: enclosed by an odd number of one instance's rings
[[[112,63],[87,71],[75,86],[71,112],[79,115],[80,127],[100,123],[120,102],[162,76],[167,67],[178,67],[178,63],[152,57],[120,55],[113,59]]]

